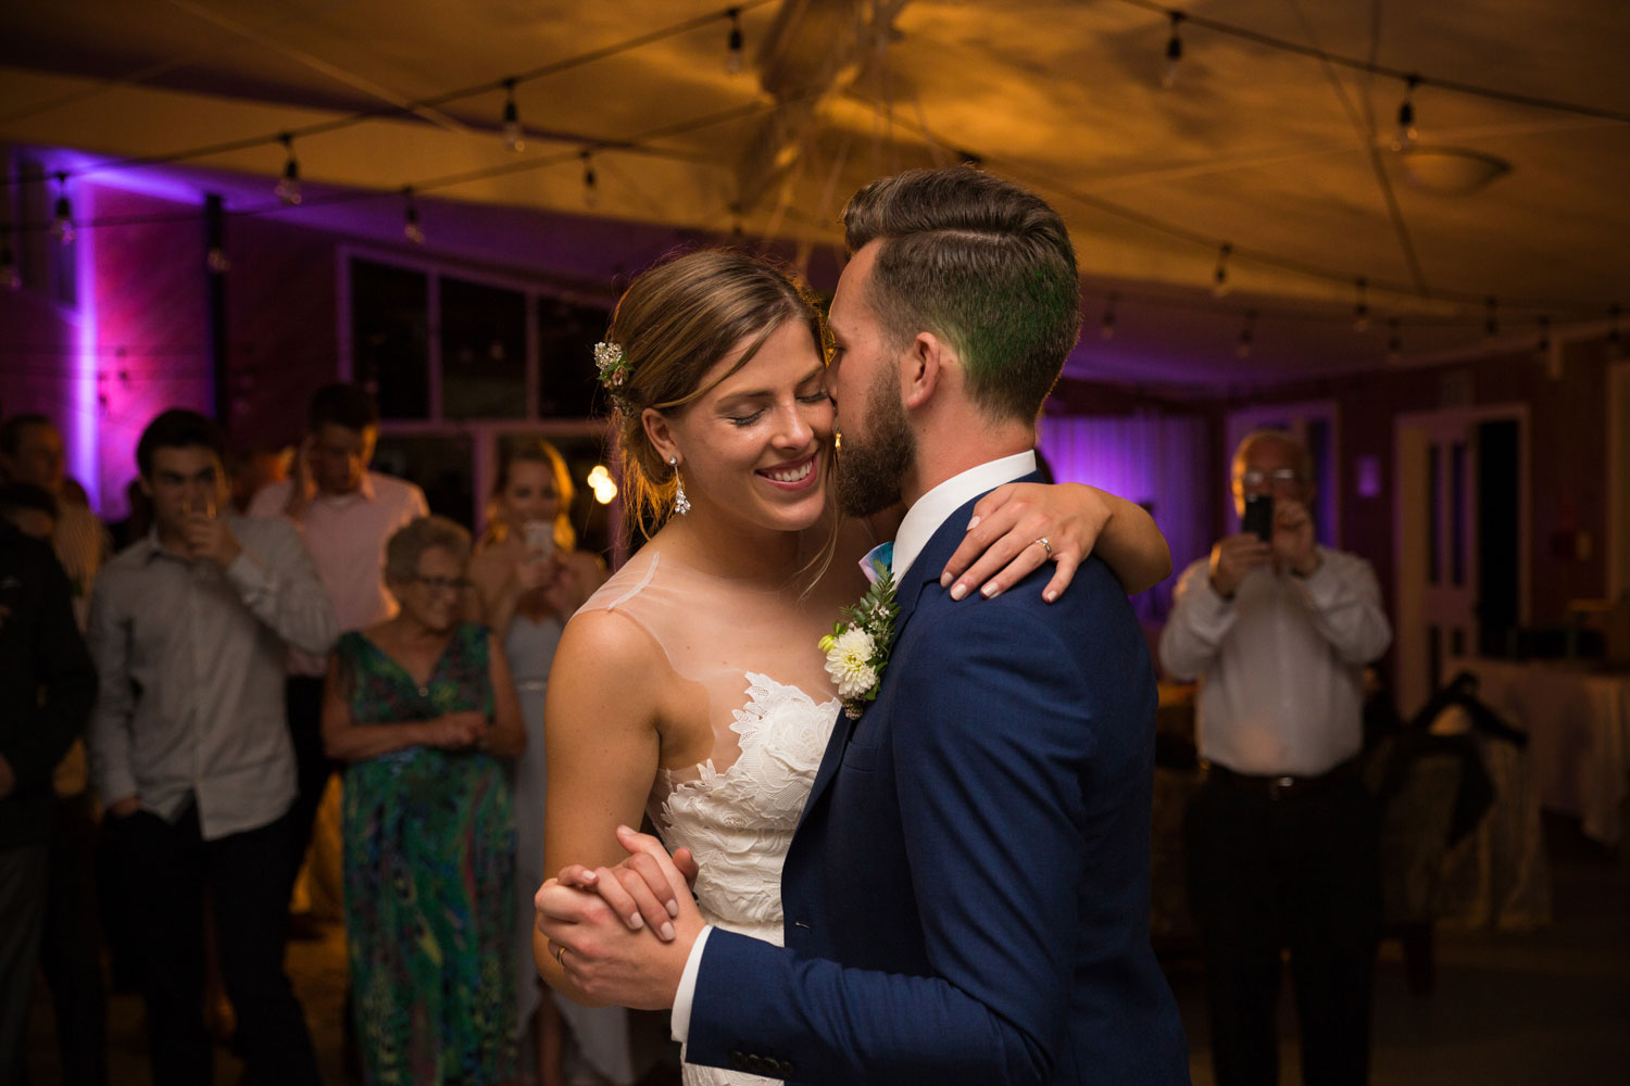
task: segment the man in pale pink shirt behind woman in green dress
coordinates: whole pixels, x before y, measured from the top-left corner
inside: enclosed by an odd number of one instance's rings
[[[319,388],[311,396],[310,431],[295,456],[293,477],[267,484],[249,501],[249,516],[282,515],[302,528],[342,633],[396,614],[396,601],[385,588],[385,541],[430,511],[419,487],[368,471],[378,436],[373,397],[355,384]],[[326,672],[324,658],[289,651],[289,731],[300,783],[290,878],[305,858],[318,803],[336,769],[323,752]]]

